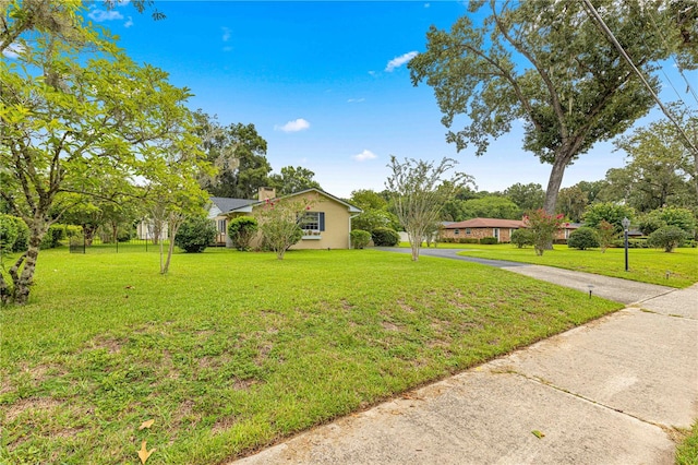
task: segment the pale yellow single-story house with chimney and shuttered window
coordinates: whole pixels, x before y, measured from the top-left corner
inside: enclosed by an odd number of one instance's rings
[[[215,222],[217,242],[231,247],[228,238],[228,223],[236,216],[255,216],[255,211],[265,205],[265,201],[276,199],[276,191],[261,188],[258,199],[210,198],[208,217]],[[306,189],[284,195],[280,202],[304,199],[311,207],[303,218],[303,237],[291,249],[350,249],[351,218],[363,211],[320,189]],[[258,235],[253,247],[262,241]]]

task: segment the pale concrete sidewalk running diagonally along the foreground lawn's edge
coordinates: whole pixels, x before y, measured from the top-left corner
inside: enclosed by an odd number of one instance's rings
[[[616,286],[597,278],[597,295]],[[619,291],[637,306],[236,463],[672,464],[675,428],[698,417],[698,285],[647,286]]]

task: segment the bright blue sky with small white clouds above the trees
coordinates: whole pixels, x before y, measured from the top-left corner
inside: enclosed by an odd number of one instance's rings
[[[449,28],[466,13],[456,1],[158,1],[167,17],[153,21],[123,4],[92,21],[120,37],[139,62],[189,87],[192,109],[221,123],[253,123],[267,141],[274,172],[302,166],[334,195],[381,191],[389,156],[459,162],[479,190],[516,182],[545,188],[550,166],[521,150],[521,130],[494,141],[482,157],[456,152],[431,87],[412,86],[406,63],[423,51],[431,24]],[[689,74],[698,82],[698,74]],[[672,78],[678,91],[686,85]],[[669,93],[671,91],[671,94]],[[677,99],[673,90],[665,102]],[[696,99],[682,94],[687,103]],[[690,98],[690,99],[689,99]],[[653,111],[638,124],[658,118]],[[563,187],[602,179],[624,165],[610,143],[598,144],[567,168]]]

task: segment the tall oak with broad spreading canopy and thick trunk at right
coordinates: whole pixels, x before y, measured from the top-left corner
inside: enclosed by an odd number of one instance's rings
[[[695,3],[593,3],[655,92],[661,60],[677,56],[683,65],[696,65]],[[565,168],[654,105],[581,1],[471,1],[450,32],[432,26],[426,37],[426,51],[409,68],[414,85],[425,81],[434,88],[447,128],[466,116],[447,140],[458,151],[472,144],[482,155],[492,138],[522,120],[524,148],[552,165],[549,213]]]

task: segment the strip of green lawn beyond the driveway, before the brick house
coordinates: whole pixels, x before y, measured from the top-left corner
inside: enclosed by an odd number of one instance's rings
[[[456,245],[441,243],[438,248],[448,249],[452,246]],[[683,288],[698,282],[698,249],[681,248],[672,253],[657,249],[630,249],[626,272],[624,249],[607,249],[601,253],[599,249],[577,250],[554,246],[553,250],[546,250],[542,257],[538,257],[532,247],[517,249],[509,243],[462,245],[462,248],[458,252],[460,255],[556,266],[670,287]]]

